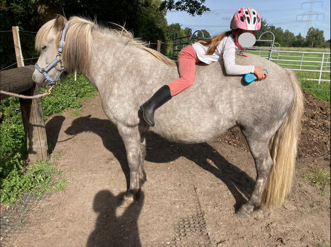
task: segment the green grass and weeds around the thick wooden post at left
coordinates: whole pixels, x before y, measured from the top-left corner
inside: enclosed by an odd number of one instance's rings
[[[74,81],[74,76],[69,75],[66,80],[58,83],[50,96],[42,98],[44,116],[62,113],[67,108],[77,109],[81,107],[83,100],[94,97],[96,94],[96,88],[84,76],[77,75],[77,81]],[[40,196],[50,191],[54,184],[57,184],[54,190],[62,190],[66,180],[54,182],[52,176],[57,174],[51,172],[48,165],[37,163],[26,167],[23,163],[27,151],[19,99],[10,97],[0,106],[1,202],[6,205],[12,204],[23,191]],[[73,113],[80,114],[81,110],[74,110]],[[54,162],[56,160],[54,159]],[[37,172],[35,169],[38,167],[40,170]],[[31,170],[33,170],[32,173]]]

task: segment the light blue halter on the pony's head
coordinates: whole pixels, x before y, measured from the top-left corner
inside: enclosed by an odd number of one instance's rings
[[[62,63],[61,63],[61,56],[62,56],[62,51],[63,51],[63,46],[64,46],[64,40],[65,40],[65,36],[66,36],[66,31],[67,31],[67,28],[68,28],[68,25],[69,25],[69,22],[67,22],[62,30],[62,35],[61,35],[61,40],[60,40],[60,43],[59,43],[59,50],[58,50],[58,55],[56,57],[56,59],[54,59],[50,64],[48,64],[48,66],[46,68],[41,68],[38,66],[38,64],[36,63],[35,64],[35,68],[40,72],[42,73],[46,80],[45,82],[49,82],[50,85],[55,85],[58,81],[60,81],[60,78],[63,74],[64,71],[66,71],[66,69],[62,66]],[[58,58],[59,57],[59,58]],[[47,74],[47,72],[52,68],[54,67],[58,62],[60,62],[61,64],[61,72],[60,72],[60,75],[58,76],[57,80],[53,81]]]

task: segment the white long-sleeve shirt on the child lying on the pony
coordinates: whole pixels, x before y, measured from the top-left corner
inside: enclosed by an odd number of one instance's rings
[[[246,73],[254,73],[254,65],[245,66],[236,64],[236,51],[239,51],[239,48],[235,45],[232,34],[226,36],[219,42],[213,55],[205,55],[209,46],[204,46],[198,42],[192,44],[192,46],[201,62],[210,64],[223,59],[225,71],[228,75],[244,75]]]

